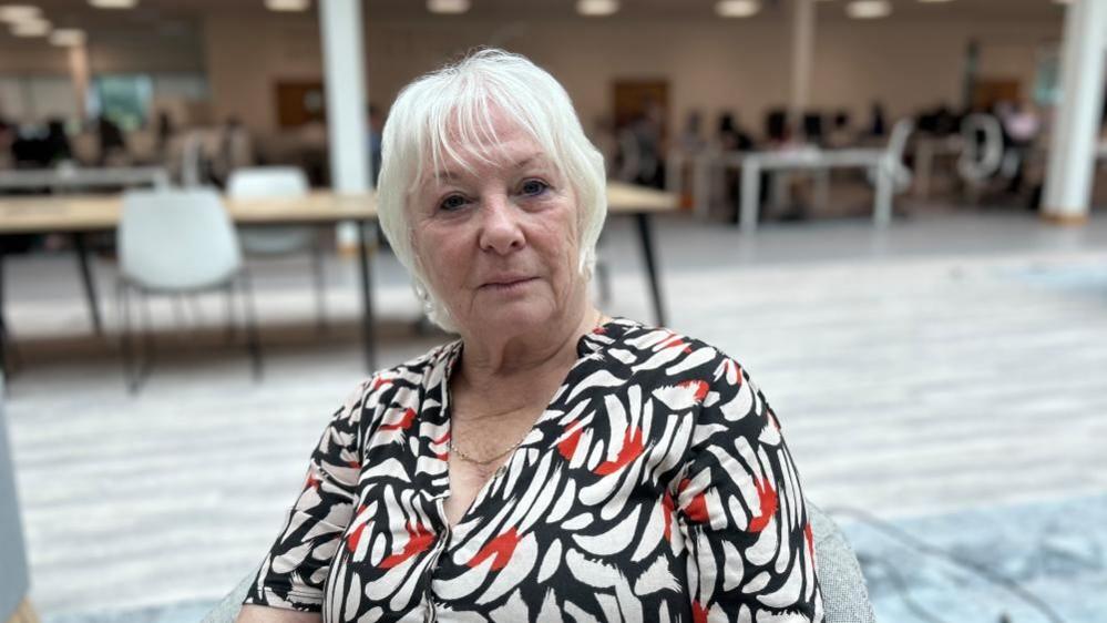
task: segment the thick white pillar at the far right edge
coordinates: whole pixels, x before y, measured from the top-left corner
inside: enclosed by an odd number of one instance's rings
[[[1043,214],[1062,223],[1087,218],[1104,90],[1107,0],[1074,0],[1065,10],[1060,101],[1049,145]]]

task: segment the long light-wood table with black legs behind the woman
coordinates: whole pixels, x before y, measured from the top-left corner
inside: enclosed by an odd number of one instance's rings
[[[665,324],[665,308],[657,276],[650,217],[656,213],[677,210],[677,197],[653,188],[612,182],[607,186],[608,213],[634,216],[649,280],[654,314]],[[318,191],[305,197],[287,200],[225,200],[230,218],[238,225],[320,225],[332,226],[344,221],[358,224],[359,277],[362,297],[362,329],[366,364],[376,366],[376,339],[372,317],[372,288],[366,225],[377,218],[375,196],[339,195]],[[85,299],[93,328],[103,333],[95,285],[88,261],[85,235],[114,231],[123,210],[122,195],[104,196],[0,196],[0,237],[18,234],[69,234],[76,249]],[[2,253],[0,253],[0,362],[7,344],[3,321]]]

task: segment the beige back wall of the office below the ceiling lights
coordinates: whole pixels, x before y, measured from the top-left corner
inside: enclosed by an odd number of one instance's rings
[[[820,20],[817,25],[811,103],[845,108],[861,118],[874,100],[892,116],[940,102],[960,104],[968,41],[981,43],[981,74],[1014,75],[1031,93],[1038,50],[1060,37],[1060,20],[1012,22]],[[584,19],[478,20],[439,18],[373,21],[367,14],[369,98],[387,105],[414,76],[480,44],[502,45],[547,68],[573,96],[591,126],[608,114],[612,81],[666,79],[678,124],[699,109],[714,125],[734,109],[760,130],[766,109],[788,99],[789,32],[785,16],[752,20],[667,22]],[[130,42],[129,42],[130,41]],[[0,44],[6,71],[65,72],[64,54],[32,53]],[[235,114],[250,127],[276,126],[278,80],[321,80],[319,28],[315,16],[219,12],[193,38],[174,43],[153,38],[93,41],[93,72],[181,70],[207,72],[214,119]]]

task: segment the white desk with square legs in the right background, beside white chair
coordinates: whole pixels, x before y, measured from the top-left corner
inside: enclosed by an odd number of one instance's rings
[[[757,229],[757,204],[761,195],[762,171],[864,168],[874,173],[872,219],[877,226],[892,221],[892,175],[895,167],[883,149],[818,150],[803,149],[778,152],[746,152],[741,156],[742,232]]]

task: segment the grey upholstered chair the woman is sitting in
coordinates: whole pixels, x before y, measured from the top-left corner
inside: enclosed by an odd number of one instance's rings
[[[819,507],[808,502],[807,508],[822,583],[826,623],[875,623],[861,565],[845,535]],[[252,573],[204,617],[203,623],[233,623],[253,580]]]

